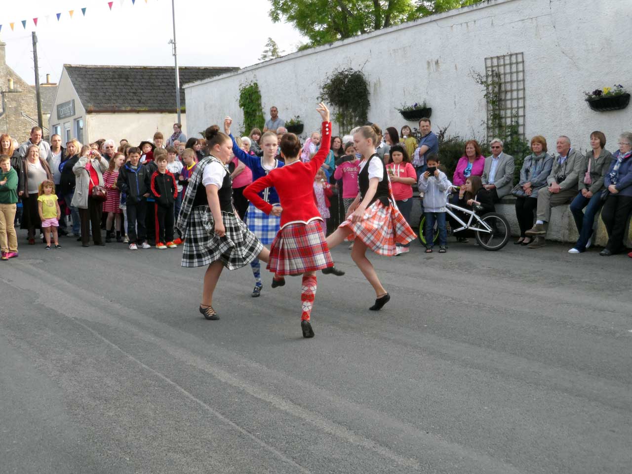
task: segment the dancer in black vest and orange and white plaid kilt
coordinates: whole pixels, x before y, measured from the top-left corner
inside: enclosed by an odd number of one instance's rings
[[[375,153],[377,135],[370,126],[360,127],[353,135],[356,152],[362,155],[358,173],[359,193],[349,206],[346,220],[327,237],[334,248],[345,238],[353,240],[351,258],[375,290],[375,304],[370,310],[380,310],[391,296],[380,283],[366,253],[370,248],[378,255],[396,255],[396,243],[406,244],[416,237],[397,208],[391,191],[386,165]]]

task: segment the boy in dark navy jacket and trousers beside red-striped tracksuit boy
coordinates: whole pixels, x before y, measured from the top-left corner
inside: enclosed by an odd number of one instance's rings
[[[137,250],[138,245],[149,248],[146,240],[145,210],[147,207],[147,168],[139,163],[140,150],[130,148],[128,161],[119,169],[116,186],[127,196],[127,235],[130,238],[130,250]],[[138,229],[138,230],[137,230]]]

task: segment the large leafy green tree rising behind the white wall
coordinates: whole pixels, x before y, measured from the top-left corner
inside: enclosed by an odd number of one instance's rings
[[[293,23],[309,39],[305,49],[480,1],[270,0],[270,18]]]

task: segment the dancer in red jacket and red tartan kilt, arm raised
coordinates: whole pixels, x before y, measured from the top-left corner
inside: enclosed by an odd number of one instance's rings
[[[317,108],[322,117],[322,146],[311,161],[300,160],[301,143],[293,133],[281,138],[281,155],[285,166],[273,169],[246,187],[243,195],[266,214],[273,209],[257,194],[274,186],[281,201],[281,228],[270,246],[267,269],[274,272],[272,288],[285,284],[285,275],[303,275],[301,288],[301,329],[303,337],[313,337],[310,323],[314,296],[316,295],[316,271],[334,273],[334,262],[329,253],[322,230],[322,217],[314,200],[313,182],[316,173],[329,154],[331,122],[325,104]],[[343,274],[337,272],[336,274]]]

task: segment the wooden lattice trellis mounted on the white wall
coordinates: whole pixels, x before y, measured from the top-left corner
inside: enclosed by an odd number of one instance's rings
[[[522,52],[485,58],[487,138],[525,138],[525,58]]]

